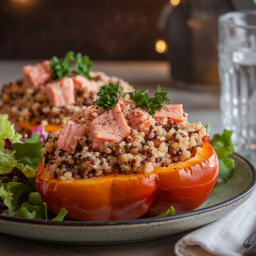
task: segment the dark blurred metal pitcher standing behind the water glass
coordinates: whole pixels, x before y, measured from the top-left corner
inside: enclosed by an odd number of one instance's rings
[[[164,7],[158,22],[167,25],[167,56],[172,77],[187,83],[219,84],[217,18],[234,10],[256,9],[253,0],[180,0]]]

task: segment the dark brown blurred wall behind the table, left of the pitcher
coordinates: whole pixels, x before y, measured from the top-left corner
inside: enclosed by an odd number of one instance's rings
[[[157,21],[166,0],[1,0],[1,58],[64,56],[94,60],[164,60]]]

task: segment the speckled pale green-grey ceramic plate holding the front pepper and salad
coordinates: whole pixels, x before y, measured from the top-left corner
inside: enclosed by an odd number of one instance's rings
[[[2,233],[34,241],[58,244],[105,245],[150,241],[201,227],[234,210],[249,198],[256,186],[251,163],[232,154],[233,177],[215,188],[198,209],[172,216],[123,221],[52,221],[0,215]]]

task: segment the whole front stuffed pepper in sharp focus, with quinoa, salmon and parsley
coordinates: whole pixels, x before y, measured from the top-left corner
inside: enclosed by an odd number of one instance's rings
[[[49,134],[35,186],[53,213],[65,207],[77,220],[127,220],[170,206],[192,211],[208,198],[219,169],[209,134],[166,96],[160,86],[150,98],[104,85],[93,105]]]

